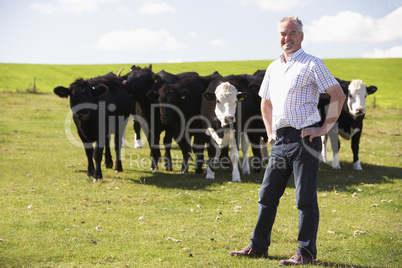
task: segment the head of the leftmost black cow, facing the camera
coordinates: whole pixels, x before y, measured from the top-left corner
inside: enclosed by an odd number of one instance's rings
[[[107,91],[108,87],[105,84],[98,84],[92,87],[88,81],[82,78],[72,83],[69,88],[59,86],[53,89],[54,94],[60,98],[70,97],[70,108],[73,111],[73,117],[82,122],[91,118],[94,104],[97,103],[96,99]]]

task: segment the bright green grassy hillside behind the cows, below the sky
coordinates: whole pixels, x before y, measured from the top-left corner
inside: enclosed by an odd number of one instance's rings
[[[154,72],[165,70],[174,74],[195,71],[208,75],[218,71],[222,75],[252,74],[256,70],[266,69],[272,61],[238,62],[189,62],[156,63]],[[343,80],[362,79],[367,85],[376,85],[378,91],[370,95],[367,103],[384,108],[402,108],[399,87],[402,84],[402,59],[326,59],[331,73]],[[56,86],[71,84],[75,79],[90,78],[108,72],[117,73],[125,68],[127,73],[133,64],[104,65],[35,65],[35,64],[0,64],[0,91],[31,90],[33,80],[39,92],[52,92]],[[139,64],[141,67],[147,64]]]

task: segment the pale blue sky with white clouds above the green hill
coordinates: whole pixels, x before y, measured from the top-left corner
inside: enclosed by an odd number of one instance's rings
[[[318,57],[402,57],[402,0],[10,0],[0,63],[270,60],[288,15]]]

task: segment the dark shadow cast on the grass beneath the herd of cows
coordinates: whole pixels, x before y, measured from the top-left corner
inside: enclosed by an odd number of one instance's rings
[[[319,191],[327,191],[330,190],[330,188],[348,191],[348,188],[353,188],[353,186],[358,186],[361,184],[381,184],[384,182],[392,183],[393,179],[402,179],[402,168],[399,167],[385,167],[363,163],[364,171],[354,171],[351,163],[342,162],[341,166],[341,170],[333,170],[328,164],[323,163],[320,165],[318,179]],[[127,168],[125,172],[128,175],[126,179],[132,180],[134,183],[150,184],[160,188],[200,190],[206,189],[211,185],[219,185],[231,182],[231,168],[218,168],[215,173],[216,179],[214,180],[205,179],[204,172],[201,174],[195,174],[192,171],[193,169],[190,168],[190,170],[191,171],[186,174],[180,174],[177,170],[169,172],[164,171],[163,169],[159,169],[154,173],[150,171],[143,171],[144,176],[138,177],[137,175],[135,176],[137,179],[130,179],[130,173],[136,174],[136,171]],[[261,184],[264,171],[265,170],[263,170],[261,173],[252,173],[250,175],[241,175],[242,182],[233,183]],[[293,176],[291,176],[289,179],[288,187],[294,188]]]

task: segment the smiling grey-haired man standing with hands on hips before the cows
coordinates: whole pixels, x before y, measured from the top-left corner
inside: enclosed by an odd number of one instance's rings
[[[292,172],[299,209],[299,235],[296,254],[279,265],[316,263],[319,211],[317,181],[320,136],[336,123],[345,95],[322,60],[304,52],[303,24],[297,17],[279,21],[280,58],[267,69],[259,95],[269,142],[273,144],[268,167],[260,188],[258,221],[251,243],[229,256],[267,257],[271,230],[279,199]],[[329,116],[322,127],[317,122],[320,93],[328,93]]]

